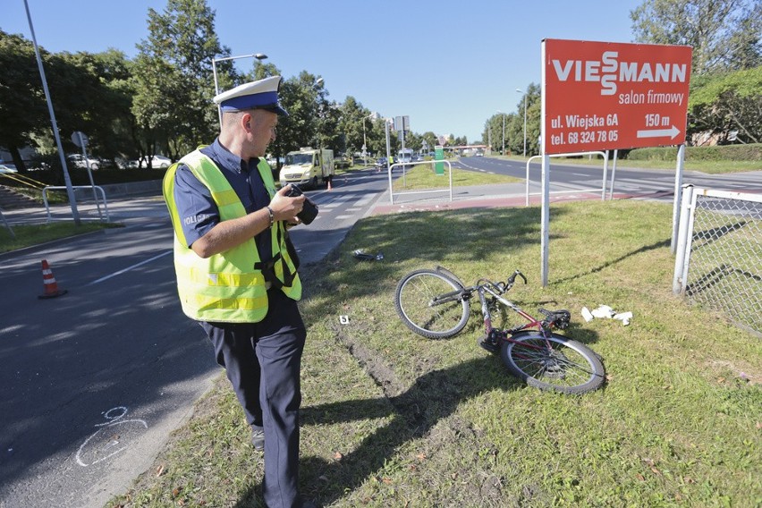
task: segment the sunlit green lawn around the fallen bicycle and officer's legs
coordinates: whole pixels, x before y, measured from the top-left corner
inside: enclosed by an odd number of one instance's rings
[[[673,296],[671,217],[650,202],[552,206],[546,288],[538,207],[360,221],[304,270],[302,492],[342,507],[762,504],[762,342]],[[466,282],[521,268],[529,285],[509,296],[571,309],[566,334],[603,357],[605,389],[521,385],[476,346],[477,309],[452,339],[408,332],[394,288],[437,264]],[[580,308],[603,303],[631,325],[584,323]],[[224,376],[172,439],[110,506],[262,506],[261,456]]]

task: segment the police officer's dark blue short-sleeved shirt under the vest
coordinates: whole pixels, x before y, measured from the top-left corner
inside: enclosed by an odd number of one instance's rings
[[[219,139],[201,148],[201,153],[212,159],[220,168],[238,198],[241,199],[247,214],[270,204],[270,195],[257,169],[258,158],[247,162],[224,148]],[[174,202],[177,205],[182,233],[185,234],[188,247],[220,222],[219,211],[211,192],[206,185],[199,182],[187,165],[178,166],[174,174]],[[262,261],[273,257],[270,232],[271,229],[267,228],[255,237],[259,258]]]

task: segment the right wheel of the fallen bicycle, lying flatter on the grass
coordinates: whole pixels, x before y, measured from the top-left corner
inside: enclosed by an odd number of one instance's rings
[[[515,334],[501,346],[500,357],[514,376],[540,390],[585,394],[605,382],[605,368],[597,354],[559,334]]]

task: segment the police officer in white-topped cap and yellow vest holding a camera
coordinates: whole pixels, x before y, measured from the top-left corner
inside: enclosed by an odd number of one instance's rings
[[[299,224],[304,196],[275,191],[264,156],[275,140],[280,76],[214,98],[215,142],[167,171],[174,266],[183,312],[198,320],[265,453],[270,507],[302,506],[299,483],[301,352],[306,331],[298,259],[286,224]],[[304,504],[309,505],[309,504]]]

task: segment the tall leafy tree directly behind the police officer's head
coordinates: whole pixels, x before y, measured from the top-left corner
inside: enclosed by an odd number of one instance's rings
[[[132,112],[142,132],[140,151],[157,146],[173,159],[215,138],[212,59],[227,55],[206,0],[167,0],[164,13],[148,9],[148,39],[140,41]]]

